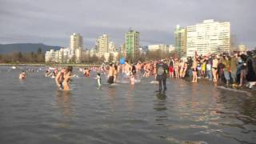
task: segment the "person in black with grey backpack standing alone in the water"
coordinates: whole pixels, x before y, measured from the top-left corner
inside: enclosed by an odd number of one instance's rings
[[[166,78],[168,73],[168,66],[163,61],[159,61],[156,67],[157,67],[156,80],[159,83],[159,92],[162,91],[162,85],[163,85],[164,91],[166,91]]]

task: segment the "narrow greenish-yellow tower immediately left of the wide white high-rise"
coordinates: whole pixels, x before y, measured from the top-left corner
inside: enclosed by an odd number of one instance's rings
[[[180,58],[186,57],[186,28],[176,26],[175,35],[175,51]]]

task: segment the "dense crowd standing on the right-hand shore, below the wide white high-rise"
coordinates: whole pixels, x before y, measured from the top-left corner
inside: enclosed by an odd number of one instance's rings
[[[233,86],[243,86],[248,82],[253,84],[256,82],[256,53],[248,51],[247,53],[196,55],[186,60],[171,58],[170,76],[192,77],[192,82],[198,82],[199,78],[208,78],[213,82],[219,81]]]

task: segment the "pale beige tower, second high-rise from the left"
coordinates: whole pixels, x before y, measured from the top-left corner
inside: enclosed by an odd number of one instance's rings
[[[107,34],[103,34],[97,40],[98,43],[98,56],[102,57],[105,53],[109,52],[109,37]]]

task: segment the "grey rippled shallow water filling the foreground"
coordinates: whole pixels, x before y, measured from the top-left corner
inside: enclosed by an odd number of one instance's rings
[[[157,94],[153,78],[98,89],[92,74],[64,92],[42,71],[19,72],[0,67],[1,144],[256,142],[256,96],[211,82],[171,79]]]

